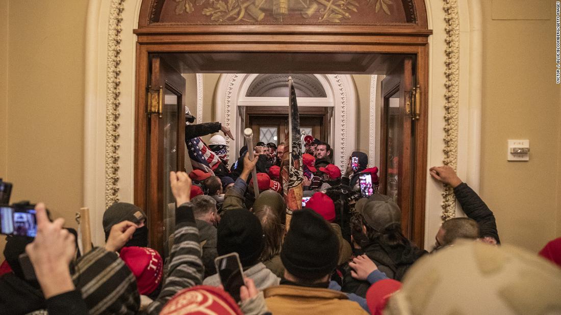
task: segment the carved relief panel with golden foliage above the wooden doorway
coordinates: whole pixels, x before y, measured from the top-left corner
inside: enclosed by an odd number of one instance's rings
[[[162,0],[158,4],[154,2],[157,1],[153,1],[150,7],[150,23],[380,25],[411,23],[411,16],[416,16],[416,12],[410,12],[415,10],[410,2],[397,0]],[[160,6],[161,10],[158,10]]]

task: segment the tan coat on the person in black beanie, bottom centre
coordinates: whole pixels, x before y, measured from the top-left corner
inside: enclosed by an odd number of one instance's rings
[[[267,308],[274,315],[368,314],[344,293],[330,289],[283,284],[267,288],[264,293]]]

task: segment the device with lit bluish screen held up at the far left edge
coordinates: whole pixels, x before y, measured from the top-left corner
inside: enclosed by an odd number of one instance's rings
[[[0,233],[35,237],[37,218],[29,207],[0,206]]]

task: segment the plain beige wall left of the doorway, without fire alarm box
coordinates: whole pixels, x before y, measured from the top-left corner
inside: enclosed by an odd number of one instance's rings
[[[0,2],[0,177],[12,201],[45,201],[71,227],[84,192],[87,6]]]

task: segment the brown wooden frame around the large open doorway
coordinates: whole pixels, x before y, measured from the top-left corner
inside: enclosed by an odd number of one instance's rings
[[[232,30],[233,33],[230,33]],[[261,52],[261,53],[385,53],[415,55],[415,73],[421,91],[428,91],[431,30],[411,27],[300,26],[282,28],[236,26],[146,26],[135,30],[136,114],[134,201],[146,209],[146,93],[148,56],[153,53]],[[313,55],[310,54],[310,58]],[[257,70],[257,69],[256,69]],[[428,93],[421,93],[420,119],[415,123],[415,174],[413,174],[413,233],[424,247],[427,175]]]

